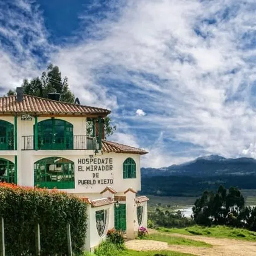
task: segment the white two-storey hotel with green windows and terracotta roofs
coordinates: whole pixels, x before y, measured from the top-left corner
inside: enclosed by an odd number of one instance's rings
[[[147,152],[104,140],[109,113],[60,102],[56,93],[49,99],[23,95],[20,87],[17,96],[0,98],[0,181],[84,198],[87,249],[113,227],[134,238],[140,225],[147,226],[148,198],[136,197],[140,155]]]

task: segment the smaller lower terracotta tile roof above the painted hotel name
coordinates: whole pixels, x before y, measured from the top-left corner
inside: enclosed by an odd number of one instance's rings
[[[130,154],[148,154],[148,152],[143,149],[134,148],[128,145],[123,145],[123,144],[108,141],[108,140],[102,140],[102,151],[108,152],[108,153],[116,152],[116,153],[130,153]]]

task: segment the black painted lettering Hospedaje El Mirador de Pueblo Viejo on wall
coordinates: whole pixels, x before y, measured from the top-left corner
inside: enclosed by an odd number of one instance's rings
[[[76,161],[77,185],[94,188],[113,184],[113,158],[88,157]]]

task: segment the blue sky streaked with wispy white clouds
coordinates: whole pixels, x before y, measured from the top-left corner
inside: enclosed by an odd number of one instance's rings
[[[0,90],[52,62],[142,165],[256,157],[254,0],[0,0]]]

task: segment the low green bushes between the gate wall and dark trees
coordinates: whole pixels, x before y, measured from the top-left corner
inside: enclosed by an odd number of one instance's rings
[[[171,213],[168,210],[162,211],[159,208],[155,212],[148,212],[148,218],[151,221],[149,224],[153,227],[188,227],[195,224],[192,218],[184,217],[180,211]]]

